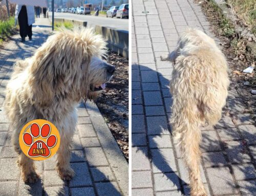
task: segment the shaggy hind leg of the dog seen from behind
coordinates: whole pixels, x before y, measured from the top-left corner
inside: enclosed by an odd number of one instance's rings
[[[174,103],[172,109],[173,116],[170,122],[174,138],[178,141],[181,156],[189,171],[191,195],[206,195],[200,175],[202,135],[197,107],[187,101],[183,104]]]

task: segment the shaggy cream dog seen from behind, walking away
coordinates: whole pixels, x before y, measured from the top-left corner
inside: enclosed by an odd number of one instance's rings
[[[200,126],[221,119],[229,86],[227,62],[215,41],[196,29],[183,33],[177,49],[161,59],[174,64],[170,123],[189,170],[191,195],[207,195],[200,177]]]

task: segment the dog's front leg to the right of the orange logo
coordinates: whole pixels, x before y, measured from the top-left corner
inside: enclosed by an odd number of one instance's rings
[[[67,133],[67,132],[66,132]],[[60,136],[60,145],[57,151],[57,171],[62,180],[71,180],[74,170],[70,167],[70,145],[73,135],[63,132]]]

